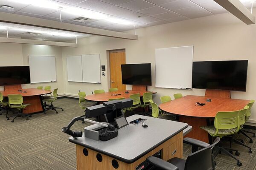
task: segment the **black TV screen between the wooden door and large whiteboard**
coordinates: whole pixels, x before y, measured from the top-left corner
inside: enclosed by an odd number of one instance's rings
[[[122,64],[122,84],[152,85],[151,64]]]

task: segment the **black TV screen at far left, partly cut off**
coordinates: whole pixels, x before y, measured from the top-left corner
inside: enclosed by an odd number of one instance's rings
[[[29,83],[29,66],[0,67],[0,85],[17,85]]]

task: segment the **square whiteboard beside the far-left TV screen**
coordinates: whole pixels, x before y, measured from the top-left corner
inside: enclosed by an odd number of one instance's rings
[[[57,81],[54,56],[29,56],[31,83]]]

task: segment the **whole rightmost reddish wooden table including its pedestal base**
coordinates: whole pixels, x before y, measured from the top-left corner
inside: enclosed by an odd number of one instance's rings
[[[200,126],[210,125],[218,111],[237,111],[244,108],[250,100],[225,99],[210,97],[212,102],[206,102],[209,97],[205,96],[184,96],[170,102],[161,104],[162,111],[178,115],[180,122],[186,122],[193,127],[186,137],[195,138],[209,143],[209,136]],[[204,106],[195,105],[196,102],[206,103]]]

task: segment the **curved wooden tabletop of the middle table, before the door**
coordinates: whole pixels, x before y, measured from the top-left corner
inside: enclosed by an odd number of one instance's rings
[[[125,93],[125,91],[129,91],[128,94]],[[132,90],[119,90],[119,91],[112,91],[112,92],[105,92],[102,94],[92,94],[85,96],[84,99],[94,101],[94,102],[107,102],[108,99],[116,99],[125,97],[125,99],[128,99],[131,94],[137,94],[140,93],[140,96],[143,96],[143,93],[148,91],[132,91]],[[156,94],[157,92],[152,92],[152,94]],[[111,94],[120,94],[117,96],[112,96]]]

